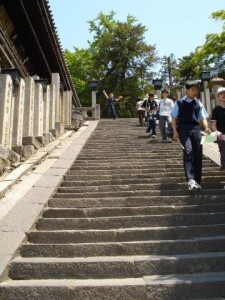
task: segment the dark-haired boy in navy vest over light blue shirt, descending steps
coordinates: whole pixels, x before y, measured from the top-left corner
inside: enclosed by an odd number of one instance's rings
[[[202,145],[201,127],[206,133],[208,113],[203,104],[196,98],[199,94],[199,83],[186,83],[186,95],[177,100],[172,111],[173,139],[180,140],[183,146],[183,163],[189,190],[201,190]],[[180,101],[180,104],[178,104]]]

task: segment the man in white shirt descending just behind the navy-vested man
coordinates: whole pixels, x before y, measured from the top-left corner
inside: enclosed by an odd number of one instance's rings
[[[172,119],[170,116],[171,110],[174,106],[172,99],[167,98],[169,92],[167,90],[162,90],[161,100],[159,102],[159,129],[162,135],[162,142],[166,143],[169,141],[167,137],[167,129],[172,127]]]

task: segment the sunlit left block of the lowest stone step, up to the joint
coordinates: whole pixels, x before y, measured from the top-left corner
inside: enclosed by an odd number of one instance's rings
[[[2,300],[147,300],[142,278],[98,280],[15,280],[0,284]],[[31,298],[32,295],[32,298]],[[116,298],[115,298],[116,295]],[[106,298],[107,297],[107,298]]]

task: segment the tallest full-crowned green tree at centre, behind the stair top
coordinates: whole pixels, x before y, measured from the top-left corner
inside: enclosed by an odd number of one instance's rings
[[[93,67],[106,91],[124,96],[119,103],[121,116],[134,116],[135,100],[153,76],[155,46],[146,44],[147,29],[133,16],[129,15],[125,22],[114,17],[114,12],[101,12],[89,21],[90,32],[94,33],[93,41],[89,42]]]

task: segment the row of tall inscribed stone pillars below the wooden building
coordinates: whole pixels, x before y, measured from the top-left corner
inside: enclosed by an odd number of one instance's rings
[[[0,74],[0,145],[25,158],[72,126],[72,92],[60,90],[59,74],[47,87],[38,79]]]

